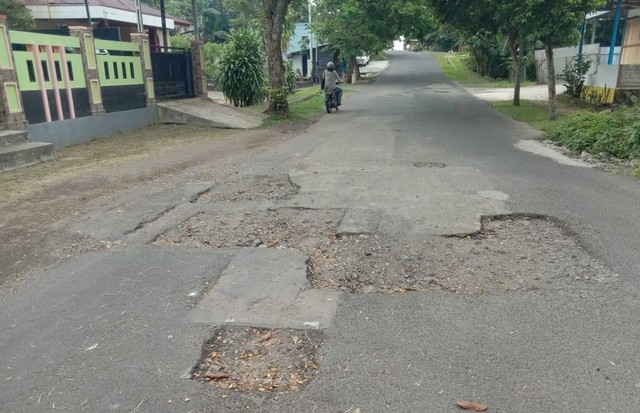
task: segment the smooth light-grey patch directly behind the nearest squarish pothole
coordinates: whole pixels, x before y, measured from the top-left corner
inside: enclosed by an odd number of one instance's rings
[[[248,249],[235,256],[192,323],[317,329],[331,325],[339,295],[310,289],[307,256],[289,249]]]

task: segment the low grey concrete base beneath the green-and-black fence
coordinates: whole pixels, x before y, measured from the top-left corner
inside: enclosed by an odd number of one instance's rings
[[[56,148],[88,142],[119,133],[130,132],[156,123],[155,107],[109,113],[105,116],[68,119],[29,125],[29,139],[49,142]]]

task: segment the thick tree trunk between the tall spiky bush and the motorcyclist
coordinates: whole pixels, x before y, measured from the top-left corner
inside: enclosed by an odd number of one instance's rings
[[[286,115],[289,105],[285,99],[275,99],[285,87],[285,68],[282,61],[282,32],[284,19],[287,15],[291,0],[262,0],[267,20],[267,66],[269,70],[269,112]]]

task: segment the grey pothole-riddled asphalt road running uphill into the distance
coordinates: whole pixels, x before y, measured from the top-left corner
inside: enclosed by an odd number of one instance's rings
[[[635,412],[640,186],[535,136],[394,53],[294,136],[79,208],[0,293],[2,410]]]

